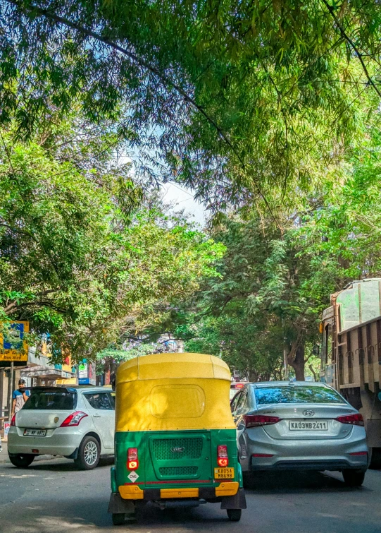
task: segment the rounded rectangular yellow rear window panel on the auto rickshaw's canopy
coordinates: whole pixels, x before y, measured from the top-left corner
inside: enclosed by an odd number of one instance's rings
[[[149,402],[156,418],[198,418],[205,411],[205,393],[199,385],[157,385]]]

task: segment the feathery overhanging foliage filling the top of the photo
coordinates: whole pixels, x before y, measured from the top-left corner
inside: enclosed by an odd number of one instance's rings
[[[32,136],[51,100],[80,100],[147,179],[214,210],[259,202],[277,220],[274,189],[335,174],[380,102],[377,3],[6,0],[0,20],[2,121]]]

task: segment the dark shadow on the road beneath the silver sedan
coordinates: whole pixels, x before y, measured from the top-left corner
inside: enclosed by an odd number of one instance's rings
[[[349,487],[339,472],[257,472],[245,480],[245,490],[253,494],[284,494],[369,491],[366,486]]]

